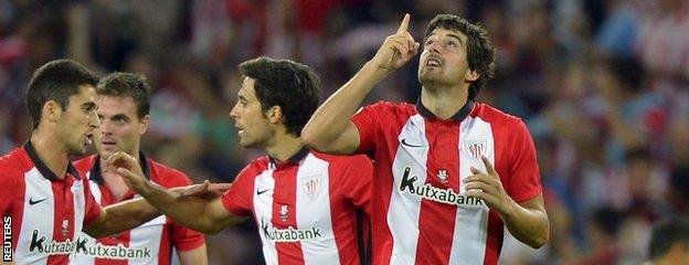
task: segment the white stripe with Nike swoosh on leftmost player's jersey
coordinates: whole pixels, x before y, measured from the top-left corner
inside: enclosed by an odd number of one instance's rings
[[[51,181],[43,178],[41,172],[33,168],[24,174],[26,189],[24,191],[24,212],[22,216],[21,230],[19,232],[19,241],[17,244],[17,264],[46,264],[47,255],[29,252],[33,232],[38,233],[38,239],[45,237],[43,243],[53,242],[53,224],[55,215],[55,199]],[[29,201],[45,201],[29,204]]]

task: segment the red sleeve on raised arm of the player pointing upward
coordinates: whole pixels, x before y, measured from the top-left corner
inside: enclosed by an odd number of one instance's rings
[[[384,109],[385,103],[379,102],[373,105],[362,107],[351,117],[351,121],[359,130],[359,147],[357,153],[373,153],[375,144],[380,142],[381,136],[381,117],[380,114]]]

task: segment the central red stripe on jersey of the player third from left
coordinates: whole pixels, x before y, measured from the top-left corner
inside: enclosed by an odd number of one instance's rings
[[[297,195],[296,178],[298,167],[287,167],[273,173],[275,179],[273,195],[273,226],[276,229],[297,227]],[[279,187],[279,188],[277,188]],[[286,212],[283,211],[286,206]],[[286,213],[286,219],[283,219]],[[299,242],[277,242],[277,262],[279,264],[304,264],[304,253]]]

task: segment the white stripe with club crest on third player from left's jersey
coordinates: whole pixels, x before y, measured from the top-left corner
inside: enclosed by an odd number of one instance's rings
[[[319,230],[322,235],[301,241],[305,264],[340,264],[330,218],[328,162],[309,153],[299,167],[296,182],[296,229]]]

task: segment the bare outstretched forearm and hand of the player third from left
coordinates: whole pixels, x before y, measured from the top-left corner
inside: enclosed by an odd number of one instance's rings
[[[187,227],[205,234],[214,234],[245,219],[225,210],[220,197],[209,200],[182,195],[148,181],[138,161],[125,152],[116,152],[106,162],[115,165],[117,172],[139,195]]]

